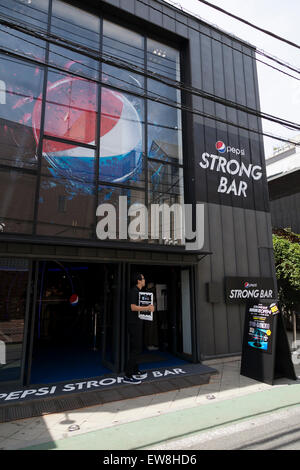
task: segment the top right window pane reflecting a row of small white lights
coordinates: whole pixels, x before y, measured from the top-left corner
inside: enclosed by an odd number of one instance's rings
[[[152,39],[147,40],[148,70],[171,78],[180,80],[180,54],[172,47],[161,44]]]

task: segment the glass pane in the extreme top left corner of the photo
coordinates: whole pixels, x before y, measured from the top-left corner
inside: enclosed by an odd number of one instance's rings
[[[29,23],[47,29],[48,3],[48,0],[0,0],[0,14],[8,20],[17,20],[22,25]]]

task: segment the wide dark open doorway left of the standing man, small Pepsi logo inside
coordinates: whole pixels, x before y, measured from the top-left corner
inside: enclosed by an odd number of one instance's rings
[[[119,274],[113,263],[38,262],[30,383],[117,370]]]

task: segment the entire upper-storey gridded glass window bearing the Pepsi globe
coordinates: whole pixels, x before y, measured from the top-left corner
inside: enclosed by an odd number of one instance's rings
[[[127,196],[128,227],[139,204],[182,204],[179,51],[60,0],[8,14],[30,28],[0,26],[0,236],[96,240],[102,203]]]

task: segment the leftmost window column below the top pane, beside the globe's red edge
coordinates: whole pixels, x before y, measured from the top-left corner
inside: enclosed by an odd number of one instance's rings
[[[0,57],[0,234],[32,233],[43,71]]]

